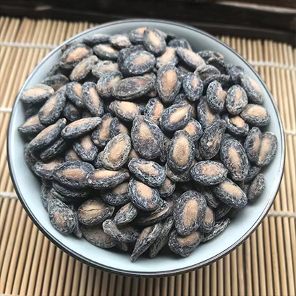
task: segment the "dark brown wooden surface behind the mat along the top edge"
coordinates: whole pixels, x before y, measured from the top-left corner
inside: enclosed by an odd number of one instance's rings
[[[94,23],[161,18],[213,35],[269,38],[295,46],[296,0],[0,0],[0,13]]]

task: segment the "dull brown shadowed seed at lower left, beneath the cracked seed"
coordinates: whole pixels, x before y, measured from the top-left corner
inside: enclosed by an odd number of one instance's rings
[[[100,225],[98,226],[81,226],[81,232],[85,240],[92,245],[108,249],[116,246],[116,240],[104,233]]]

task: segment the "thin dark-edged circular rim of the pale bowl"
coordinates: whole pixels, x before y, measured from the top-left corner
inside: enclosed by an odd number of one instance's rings
[[[251,228],[249,228],[249,230],[247,231],[247,233],[245,233],[245,235],[242,236],[242,238],[240,238],[240,240],[238,240],[237,242],[233,243],[233,245],[231,245],[230,247],[228,247],[227,249],[223,250],[223,252],[220,252],[219,254],[216,254],[214,257],[211,257],[209,259],[206,259],[205,261],[202,261],[201,263],[198,264],[193,264],[187,267],[183,267],[180,269],[173,269],[173,270],[168,270],[168,271],[152,271],[152,272],[140,272],[140,271],[125,271],[123,269],[117,269],[114,267],[110,267],[110,266],[106,266],[104,264],[100,264],[97,261],[92,261],[90,259],[85,258],[84,256],[82,256],[81,254],[78,254],[76,252],[74,252],[72,249],[70,249],[70,247],[67,247],[66,245],[63,245],[63,243],[59,242],[58,240],[56,240],[56,238],[54,237],[54,235],[52,235],[46,228],[44,228],[42,226],[41,223],[39,223],[37,221],[37,218],[35,218],[34,214],[32,213],[32,211],[30,210],[30,207],[27,206],[27,203],[25,202],[25,198],[22,195],[22,192],[20,190],[20,187],[18,186],[18,181],[16,179],[16,175],[15,175],[15,165],[12,164],[11,161],[11,133],[12,133],[12,122],[13,122],[13,118],[16,116],[16,104],[18,104],[18,101],[20,99],[20,94],[23,92],[25,85],[27,85],[27,82],[29,82],[32,77],[35,75],[35,73],[37,72],[37,70],[42,67],[42,64],[47,61],[48,58],[50,58],[53,54],[56,53],[56,51],[60,50],[61,47],[63,47],[64,44],[68,43],[68,42],[72,42],[73,40],[75,40],[78,37],[81,37],[82,35],[85,35],[85,33],[90,33],[94,30],[97,30],[98,28],[104,28],[104,27],[109,27],[112,25],[120,25],[123,23],[138,23],[138,22],[151,22],[151,23],[163,23],[163,24],[169,24],[169,25],[177,25],[179,27],[184,27],[187,30],[192,30],[194,32],[198,32],[199,34],[205,35],[206,37],[209,37],[210,39],[214,39],[214,41],[220,43],[221,45],[223,45],[223,47],[226,47],[229,51],[231,51],[233,54],[235,54],[236,56],[238,56],[238,58],[240,58],[240,60],[242,60],[243,63],[245,63],[245,66],[250,68],[252,70],[252,72],[254,73],[254,75],[257,76],[258,80],[261,82],[262,86],[264,87],[264,89],[266,90],[267,94],[269,95],[269,99],[271,99],[271,102],[273,104],[273,107],[276,110],[276,116],[278,118],[278,123],[280,125],[280,145],[281,145],[281,149],[282,149],[282,154],[280,155],[280,178],[278,178],[277,181],[277,185],[276,185],[276,189],[272,192],[271,197],[269,199],[268,204],[266,205],[266,207],[264,208],[264,211],[262,211],[261,215],[257,218],[257,221],[255,221],[255,223],[252,225]],[[34,70],[32,71],[32,73],[30,73],[30,75],[27,77],[27,79],[25,80],[23,86],[20,89],[20,92],[18,93],[18,96],[16,97],[16,100],[13,103],[13,109],[11,112],[11,118],[9,119],[9,124],[8,124],[8,132],[7,132],[7,156],[8,156],[8,168],[9,171],[11,173],[11,179],[13,181],[13,186],[15,187],[16,190],[16,194],[18,195],[18,199],[20,200],[21,204],[23,205],[25,211],[27,212],[27,215],[31,218],[31,220],[35,223],[35,225],[37,226],[37,228],[52,242],[54,243],[54,245],[56,245],[57,247],[59,247],[60,249],[63,250],[63,252],[66,252],[67,254],[69,254],[71,257],[74,257],[75,259],[78,259],[79,261],[82,261],[82,263],[85,263],[89,266],[92,266],[96,269],[101,269],[103,271],[107,271],[107,272],[111,272],[111,273],[117,273],[120,274],[122,276],[134,276],[134,277],[163,277],[163,276],[175,276],[181,273],[185,273],[185,272],[189,272],[189,271],[194,271],[196,269],[202,268],[203,266],[206,266],[208,264],[211,264],[214,261],[217,261],[218,259],[221,259],[222,257],[226,256],[227,254],[229,254],[230,252],[232,252],[234,249],[238,248],[242,242],[245,242],[245,240],[247,240],[247,238],[249,238],[250,235],[252,235],[252,233],[254,232],[254,230],[257,229],[257,227],[259,226],[259,224],[261,223],[261,221],[265,218],[266,214],[269,212],[269,209],[271,208],[271,205],[273,204],[274,199],[276,198],[276,194],[278,192],[278,189],[280,187],[280,183],[281,180],[283,178],[283,169],[284,169],[284,164],[285,164],[285,133],[283,130],[283,123],[282,120],[280,118],[280,113],[278,111],[278,106],[276,106],[276,102],[273,99],[273,96],[271,94],[271,92],[269,91],[268,87],[266,86],[264,80],[262,80],[262,78],[259,76],[259,74],[257,73],[257,71],[254,70],[254,68],[252,68],[252,66],[245,60],[245,58],[243,58],[240,54],[238,54],[235,50],[233,50],[232,48],[230,48],[227,44],[221,42],[221,40],[217,39],[216,37],[214,37],[213,35],[210,35],[209,33],[206,33],[202,30],[199,30],[195,27],[192,27],[190,25],[185,25],[183,23],[178,23],[178,22],[173,22],[173,21],[169,21],[169,20],[158,20],[158,19],[153,19],[153,18],[132,18],[132,19],[126,19],[126,20],[117,20],[117,21],[113,21],[113,22],[109,22],[109,23],[104,23],[101,25],[98,25],[96,27],[92,27],[88,30],[85,30],[83,32],[80,32],[79,34],[71,37],[70,39],[67,39],[66,41],[64,41],[62,44],[58,45],[58,47],[56,47],[54,50],[52,50],[47,56],[45,56],[42,61],[40,61],[37,66],[34,68]]]

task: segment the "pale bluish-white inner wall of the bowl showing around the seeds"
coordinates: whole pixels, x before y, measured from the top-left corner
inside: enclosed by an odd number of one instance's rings
[[[218,235],[214,240],[206,244],[199,245],[195,252],[188,258],[181,258],[173,254],[159,254],[155,259],[149,259],[144,256],[140,257],[135,263],[131,263],[129,254],[114,252],[109,249],[100,249],[99,247],[91,245],[84,239],[78,240],[78,238],[72,235],[61,235],[61,233],[58,233],[51,226],[47,211],[45,211],[42,206],[40,199],[39,180],[37,180],[35,175],[27,167],[23,157],[24,141],[17,128],[23,123],[25,118],[23,104],[21,104],[19,98],[16,99],[16,104],[11,115],[11,123],[8,132],[8,159],[13,182],[28,214],[30,214],[33,221],[35,221],[43,233],[56,245],[74,257],[85,261],[87,264],[97,266],[101,269],[124,273],[126,275],[157,276],[180,273],[208,264],[218,259],[218,257],[221,257],[223,254],[230,252],[231,249],[247,238],[269,210],[278,190],[283,172],[284,140],[283,128],[276,105],[257,74],[254,73],[254,70],[252,70],[238,54],[235,54],[235,52],[226,47],[225,44],[218,42],[214,37],[206,35],[204,32],[200,32],[185,25],[156,20],[125,20],[93,28],[73,37],[72,40],[78,41],[94,33],[110,35],[125,33],[143,26],[153,26],[164,32],[171,32],[177,37],[184,37],[190,42],[192,49],[195,51],[204,49],[218,51],[223,54],[226,63],[242,66],[245,68],[245,72],[248,75],[259,82],[265,98],[264,106],[269,110],[272,118],[266,130],[273,132],[278,137],[278,152],[270,166],[264,169],[267,186],[263,195],[256,203],[248,204],[245,209],[242,210],[238,218],[233,219],[228,228],[226,228],[221,235]],[[52,51],[49,56],[39,63],[35,71],[25,82],[23,89],[41,82],[60,56],[61,49],[58,47],[58,49]]]

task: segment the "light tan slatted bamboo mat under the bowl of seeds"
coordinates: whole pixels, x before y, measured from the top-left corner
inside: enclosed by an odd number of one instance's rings
[[[90,23],[0,17],[0,294],[295,295],[296,50],[271,40],[221,37],[266,81],[283,118],[286,166],[267,216],[238,249],[214,264],[168,278],[129,278],[93,269],[55,247],[16,198],[6,161],[6,129],[18,90],[35,65]]]

